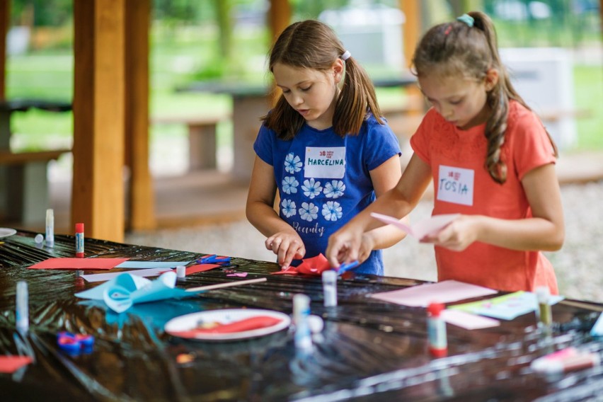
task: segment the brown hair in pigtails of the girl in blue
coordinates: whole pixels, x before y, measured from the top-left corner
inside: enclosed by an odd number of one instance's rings
[[[344,52],[345,48],[328,25],[315,20],[300,21],[285,28],[272,46],[269,69],[272,71],[276,63],[281,63],[290,67],[328,71]],[[374,86],[366,71],[353,57],[345,60],[344,64],[343,86],[333,115],[333,130],[341,137],[358,134],[367,111],[383,124]],[[282,94],[275,107],[262,120],[266,127],[277,133],[277,137],[285,140],[292,139],[305,122],[304,117],[287,103]]]

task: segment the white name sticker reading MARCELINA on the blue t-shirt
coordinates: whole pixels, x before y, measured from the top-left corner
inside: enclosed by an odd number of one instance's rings
[[[306,147],[304,177],[343,178],[345,147]]]

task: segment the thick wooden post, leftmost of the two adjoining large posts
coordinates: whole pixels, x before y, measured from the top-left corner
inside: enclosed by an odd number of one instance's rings
[[[125,1],[74,1],[71,227],[124,239]]]

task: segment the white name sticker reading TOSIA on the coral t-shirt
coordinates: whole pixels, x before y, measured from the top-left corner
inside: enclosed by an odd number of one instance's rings
[[[437,199],[454,204],[473,205],[475,172],[471,169],[440,165]]]

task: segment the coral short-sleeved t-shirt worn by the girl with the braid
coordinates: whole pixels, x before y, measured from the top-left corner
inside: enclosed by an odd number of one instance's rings
[[[500,219],[532,217],[522,178],[532,169],[555,163],[553,147],[532,111],[510,102],[501,158],[507,180],[496,183],[485,167],[486,125],[460,130],[435,109],[425,115],[410,139],[415,154],[432,169],[432,214],[480,214]],[[540,251],[514,251],[476,241],[464,251],[435,246],[438,280],[459,280],[515,292],[548,286],[558,294],[553,267]]]

